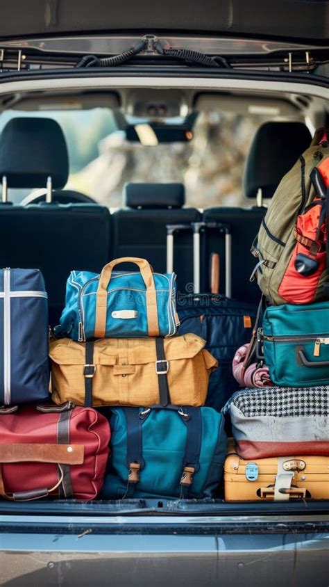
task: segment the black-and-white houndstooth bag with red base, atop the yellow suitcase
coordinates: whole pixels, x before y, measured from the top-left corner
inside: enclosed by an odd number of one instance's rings
[[[329,455],[329,386],[242,389],[223,412],[241,458]]]

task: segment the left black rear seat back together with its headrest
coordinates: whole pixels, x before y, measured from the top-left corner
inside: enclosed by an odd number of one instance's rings
[[[57,122],[14,118],[0,141],[0,177],[8,187],[40,188],[51,177],[65,186],[69,171],[65,138]],[[111,217],[98,204],[0,204],[0,266],[41,269],[55,325],[65,304],[73,269],[101,271],[110,251]]]

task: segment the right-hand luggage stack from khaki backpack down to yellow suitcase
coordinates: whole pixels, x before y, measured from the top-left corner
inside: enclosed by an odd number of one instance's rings
[[[329,499],[329,148],[326,131],[287,173],[252,252],[264,297],[223,413],[234,443],[225,499]],[[262,326],[261,326],[262,319]]]

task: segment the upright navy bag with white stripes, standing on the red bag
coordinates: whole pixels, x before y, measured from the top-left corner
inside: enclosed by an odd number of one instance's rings
[[[49,395],[48,299],[38,269],[0,270],[0,405]]]

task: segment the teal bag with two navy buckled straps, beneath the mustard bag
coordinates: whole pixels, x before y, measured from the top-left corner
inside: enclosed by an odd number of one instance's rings
[[[103,499],[214,497],[226,433],[212,408],[115,408]]]

